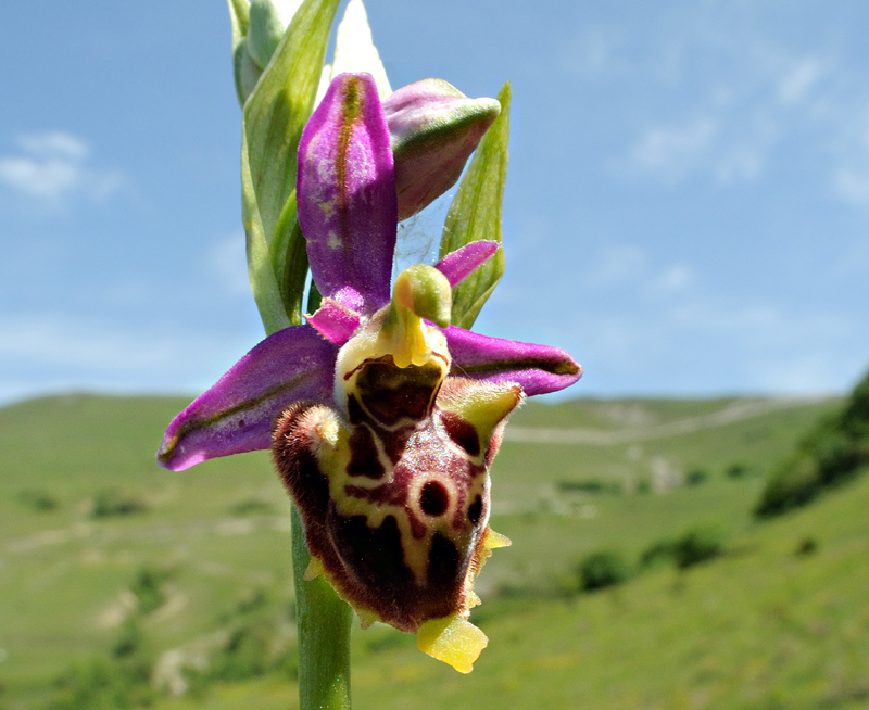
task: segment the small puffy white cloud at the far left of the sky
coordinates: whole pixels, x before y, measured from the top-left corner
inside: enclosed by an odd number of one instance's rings
[[[22,136],[20,153],[0,156],[0,185],[43,207],[103,200],[123,185],[117,170],[89,164],[90,149],[63,131]]]

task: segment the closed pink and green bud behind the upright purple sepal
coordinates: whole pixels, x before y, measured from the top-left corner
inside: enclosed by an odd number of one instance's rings
[[[399,219],[455,185],[500,112],[494,99],[469,99],[441,79],[416,81],[387,97],[383,113],[395,156]]]

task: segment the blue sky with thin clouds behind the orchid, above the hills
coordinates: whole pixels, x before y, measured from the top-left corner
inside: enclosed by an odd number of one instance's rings
[[[869,5],[531,5],[366,2],[393,87],[513,83],[507,271],[476,329],[568,348],[576,395],[848,388]],[[196,393],[262,337],[229,42],[221,0],[0,7],[0,402]]]

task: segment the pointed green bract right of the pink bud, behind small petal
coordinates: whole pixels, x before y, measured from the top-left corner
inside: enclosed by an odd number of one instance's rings
[[[474,153],[446,214],[440,256],[481,239],[502,243],[501,212],[507,180],[509,143],[509,81],[498,94],[501,114]],[[452,322],[469,329],[504,274],[504,250],[453,289]]]

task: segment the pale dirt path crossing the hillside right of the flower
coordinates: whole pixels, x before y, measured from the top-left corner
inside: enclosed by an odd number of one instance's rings
[[[615,431],[601,429],[562,429],[537,427],[507,427],[504,441],[521,444],[589,444],[592,446],[614,446],[631,444],[651,439],[665,439],[679,434],[690,434],[703,429],[725,427],[727,424],[759,417],[760,415],[781,409],[796,409],[823,402],[828,397],[771,397],[751,402],[734,402],[718,411],[698,417],[690,417],[664,424],[630,427]]]

